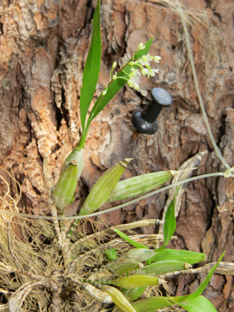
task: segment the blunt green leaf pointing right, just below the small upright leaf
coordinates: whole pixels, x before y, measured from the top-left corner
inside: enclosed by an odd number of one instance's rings
[[[151,260],[177,260],[187,262],[189,264],[194,264],[206,260],[206,255],[202,253],[191,252],[189,250],[177,250],[168,248],[156,254],[153,258],[151,258]]]

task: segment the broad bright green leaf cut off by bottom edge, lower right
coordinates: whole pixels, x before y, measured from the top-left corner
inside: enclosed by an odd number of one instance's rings
[[[190,296],[184,301],[179,301],[179,297],[171,297],[175,303],[179,304],[182,308],[188,312],[217,312],[213,304],[203,296],[198,296],[193,299],[189,299]]]

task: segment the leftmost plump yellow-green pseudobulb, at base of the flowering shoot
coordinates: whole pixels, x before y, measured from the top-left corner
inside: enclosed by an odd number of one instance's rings
[[[59,176],[55,187],[54,200],[60,213],[65,210],[76,191],[77,172],[77,161],[73,159]]]

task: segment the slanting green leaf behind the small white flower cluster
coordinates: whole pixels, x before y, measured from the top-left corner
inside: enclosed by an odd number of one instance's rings
[[[153,38],[151,38],[149,41],[146,42],[145,48],[143,50],[139,50],[136,55],[135,59],[138,59],[142,57],[143,55],[146,55],[151,47]],[[130,59],[132,60],[132,59]],[[130,61],[129,60],[129,61]],[[128,74],[131,72],[131,66],[128,65],[124,68],[124,71]],[[121,71],[117,77],[125,77],[126,75]],[[105,96],[102,97],[102,95],[99,96],[98,100],[96,101],[91,113],[89,122],[91,122],[99,113],[100,111],[110,102],[112,98],[118,93],[118,91],[125,85],[127,80],[125,79],[116,79],[114,80],[109,88],[107,89],[107,93]]]

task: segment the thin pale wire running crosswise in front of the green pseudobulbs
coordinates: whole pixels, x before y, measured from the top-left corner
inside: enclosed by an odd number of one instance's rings
[[[134,204],[137,201],[140,201],[140,200],[142,200],[144,198],[147,198],[147,197],[156,195],[156,194],[158,194],[160,192],[169,190],[169,189],[173,188],[174,186],[178,186],[178,185],[181,185],[181,184],[184,184],[184,183],[188,183],[188,182],[195,181],[195,180],[202,179],[202,178],[213,177],[213,176],[224,176],[224,174],[222,172],[215,172],[215,173],[205,174],[205,175],[201,175],[201,176],[193,176],[193,177],[190,177],[188,179],[185,179],[185,180],[182,180],[182,181],[178,181],[176,183],[173,183],[173,184],[170,184],[168,186],[162,187],[161,189],[153,191],[153,192],[148,193],[146,195],[137,197],[136,199],[130,200],[130,201],[124,203],[124,204],[121,204],[121,205],[118,205],[118,206],[115,206],[115,207],[112,207],[112,208],[109,208],[109,209],[105,209],[105,210],[99,211],[97,213],[93,213],[93,214],[90,214],[90,215],[75,215],[75,216],[67,216],[67,217],[58,216],[58,220],[76,220],[76,219],[83,219],[83,218],[87,218],[87,217],[91,217],[91,216],[106,214],[106,213],[112,212],[114,210],[117,210],[119,208],[123,208],[123,207],[126,207],[128,205]],[[38,218],[38,219],[53,220],[52,216],[27,215],[27,214],[19,214],[19,213],[4,211],[4,210],[0,210],[0,213],[6,214],[6,215],[19,215],[21,217],[27,217],[27,218]]]

